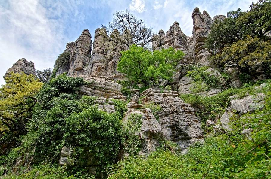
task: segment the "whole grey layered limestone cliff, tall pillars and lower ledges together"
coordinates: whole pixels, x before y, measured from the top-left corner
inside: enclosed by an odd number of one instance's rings
[[[179,62],[180,64],[210,66],[210,62],[207,60],[210,53],[204,47],[204,40],[210,32],[214,20],[223,20],[224,18],[225,16],[219,15],[212,19],[206,11],[201,14],[199,8],[195,8],[192,12],[194,24],[192,37],[185,35],[179,23],[174,22],[166,33],[161,29],[158,35],[153,36],[152,48],[159,50],[173,47],[185,53],[184,59]],[[57,61],[54,66],[55,75],[67,72],[70,77],[83,77],[88,83],[80,87],[80,95],[98,96],[100,98],[96,100],[95,105],[98,105],[101,110],[114,112],[114,105],[107,104],[105,101],[126,99],[126,96],[121,93],[122,86],[115,82],[125,78],[124,74],[117,71],[120,53],[113,53],[109,47],[106,47],[105,42],[109,37],[105,29],[95,30],[93,44],[91,37],[89,30],[85,29],[75,42],[67,43],[66,49],[61,54],[65,58],[60,58],[62,61]],[[210,71],[210,75],[221,76],[215,68],[207,70]],[[5,76],[10,71],[35,74],[34,63],[20,59],[6,72]],[[188,94],[191,93],[189,87],[192,82],[193,80],[186,77],[183,71],[178,71],[174,75],[174,81],[171,85],[174,90]],[[220,89],[211,89],[205,95],[215,95],[220,91]],[[179,98],[177,91],[160,92],[160,90],[147,89],[140,96],[142,104],[138,104],[138,99],[132,100],[127,105],[128,111],[124,117],[125,121],[131,114],[141,115],[142,125],[136,135],[140,135],[145,142],[140,154],[148,155],[155,150],[160,140],[174,141],[178,144],[179,149],[183,150],[203,137],[200,122],[194,109]],[[134,98],[138,97],[135,95]],[[154,117],[151,109],[144,108],[144,105],[151,103],[161,107],[161,111],[157,113],[159,120]]]

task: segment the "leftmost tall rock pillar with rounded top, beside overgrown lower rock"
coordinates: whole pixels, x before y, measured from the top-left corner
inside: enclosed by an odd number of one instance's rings
[[[88,29],[83,30],[74,42],[70,52],[69,76],[76,77],[84,73],[84,67],[89,64],[91,54],[91,35]]]

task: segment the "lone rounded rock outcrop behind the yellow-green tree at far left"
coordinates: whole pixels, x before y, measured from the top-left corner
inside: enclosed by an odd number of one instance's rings
[[[10,72],[14,72],[14,73],[23,72],[27,75],[29,74],[35,75],[36,73],[34,63],[28,62],[25,58],[21,58],[16,63],[14,63],[12,67],[9,68],[8,71],[6,71],[3,78],[5,79],[5,77],[7,77]]]

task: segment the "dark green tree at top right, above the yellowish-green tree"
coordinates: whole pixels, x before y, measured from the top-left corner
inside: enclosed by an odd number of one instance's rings
[[[244,40],[247,35],[266,39],[270,30],[271,1],[260,0],[251,4],[250,11],[242,12],[238,9],[228,12],[223,21],[215,21],[205,44],[214,53],[217,49],[221,51],[234,42]]]

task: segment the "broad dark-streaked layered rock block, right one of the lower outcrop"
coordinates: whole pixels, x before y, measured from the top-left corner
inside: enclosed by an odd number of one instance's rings
[[[194,108],[180,99],[176,91],[147,89],[141,96],[142,103],[153,102],[161,107],[157,112],[163,136],[176,142],[181,149],[187,148],[193,141],[203,137],[200,122]]]

